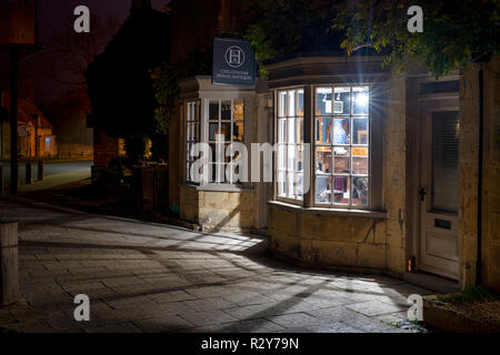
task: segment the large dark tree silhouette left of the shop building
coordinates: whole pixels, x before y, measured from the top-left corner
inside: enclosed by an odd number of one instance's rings
[[[134,11],[86,72],[92,116],[110,136],[128,141],[130,158],[142,158],[142,142],[167,132],[156,119],[149,70],[169,58],[169,32],[167,14]]]

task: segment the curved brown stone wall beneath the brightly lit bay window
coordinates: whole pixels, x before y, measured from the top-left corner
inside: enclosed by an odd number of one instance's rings
[[[312,267],[371,272],[387,267],[384,219],[327,213],[271,204],[270,250]]]

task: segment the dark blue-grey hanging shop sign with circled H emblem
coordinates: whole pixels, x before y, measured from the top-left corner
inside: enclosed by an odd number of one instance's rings
[[[254,87],[256,69],[256,54],[248,41],[213,39],[213,84]]]

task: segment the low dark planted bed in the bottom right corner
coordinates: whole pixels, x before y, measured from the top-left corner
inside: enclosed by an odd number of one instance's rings
[[[423,297],[423,322],[431,329],[447,333],[500,333],[500,326],[450,310],[437,301],[436,295]]]

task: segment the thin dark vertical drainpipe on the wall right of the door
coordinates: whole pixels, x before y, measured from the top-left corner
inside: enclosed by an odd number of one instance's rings
[[[484,115],[484,88],[483,88],[483,62],[480,62],[478,72],[479,82],[479,162],[478,162],[478,255],[476,261],[476,285],[482,282],[482,160],[483,160],[483,115]]]

